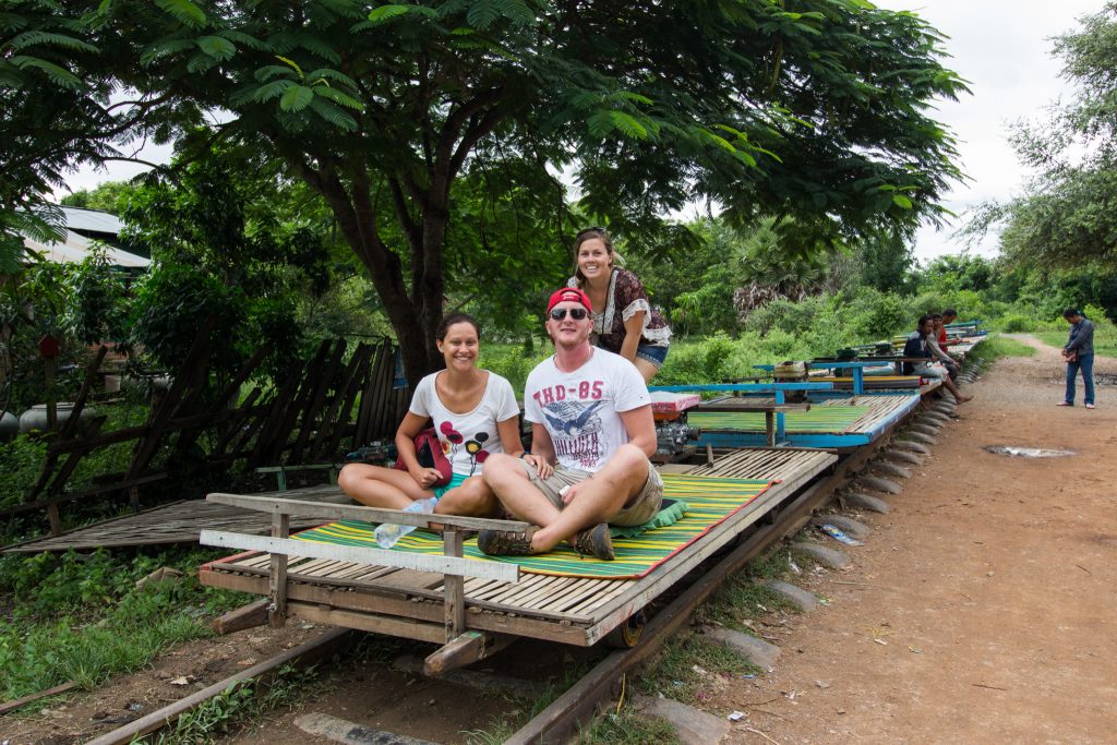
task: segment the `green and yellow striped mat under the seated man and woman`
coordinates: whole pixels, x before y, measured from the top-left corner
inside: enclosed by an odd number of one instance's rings
[[[477,548],[477,539],[466,541],[464,555],[477,561],[500,561],[519,564],[524,572],[558,576],[586,576],[611,580],[634,580],[653,570],[672,554],[698,539],[712,527],[746,506],[775,481],[754,481],[716,476],[663,475],[663,496],[687,504],[687,513],[677,523],[642,535],[613,538],[617,558],[604,562],[582,556],[565,543],[537,556],[486,556]],[[299,541],[333,543],[345,546],[376,548],[372,537],[375,525],[359,520],[331,523],[295,536]],[[442,539],[433,533],[414,531],[400,538],[392,551],[420,554],[442,554]]]

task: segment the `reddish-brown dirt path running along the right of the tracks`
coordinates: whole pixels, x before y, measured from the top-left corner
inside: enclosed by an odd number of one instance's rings
[[[725,742],[1117,742],[1117,395],[1087,411],[1079,381],[1057,408],[1057,350],[1021,341],[1039,354],[971,385],[892,512],[860,517],[853,569],[804,581],[831,602],[770,629],[774,672],[706,707],[748,713]]]

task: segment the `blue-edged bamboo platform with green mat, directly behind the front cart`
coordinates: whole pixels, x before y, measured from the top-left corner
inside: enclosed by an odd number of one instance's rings
[[[919,405],[923,391],[862,395],[812,391],[812,398],[817,400],[811,402],[808,411],[776,414],[783,418],[783,442],[800,448],[850,450],[875,442],[890,432]],[[727,411],[734,401],[747,403],[750,399],[724,397],[688,412],[688,424],[699,431],[699,447],[746,448],[767,441],[764,414]]]

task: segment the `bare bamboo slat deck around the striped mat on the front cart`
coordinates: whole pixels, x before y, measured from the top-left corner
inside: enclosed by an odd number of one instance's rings
[[[465,581],[469,629],[589,646],[623,623],[744,528],[837,461],[822,451],[733,451],[695,472],[779,484],[639,580],[523,574],[517,583]],[[679,466],[670,467],[678,472]],[[246,552],[202,566],[202,584],[267,595],[270,555]],[[292,556],[287,609],[295,618],[411,639],[445,641],[443,576]]]

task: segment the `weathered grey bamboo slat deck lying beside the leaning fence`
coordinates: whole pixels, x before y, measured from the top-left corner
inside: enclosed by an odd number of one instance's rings
[[[275,496],[283,491],[274,493]],[[349,503],[336,486],[299,489],[300,499],[308,502]],[[315,527],[322,518],[292,516],[293,528]],[[3,553],[38,553],[40,551],[88,550],[98,546],[151,546],[171,543],[194,543],[203,529],[266,534],[271,517],[239,507],[216,505],[202,499],[175,502],[152,509],[97,523],[59,536],[29,541],[3,550]]]

